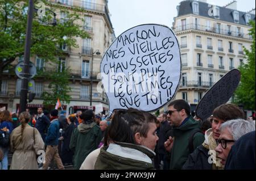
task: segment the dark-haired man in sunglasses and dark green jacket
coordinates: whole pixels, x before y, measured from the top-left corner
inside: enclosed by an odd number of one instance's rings
[[[200,129],[200,123],[192,118],[189,104],[182,99],[168,105],[168,117],[174,125],[174,137],[169,137],[164,146],[167,151],[171,151],[170,169],[181,169],[190,153],[189,138]],[[193,149],[196,149],[204,142],[204,134],[197,132],[192,140]]]

